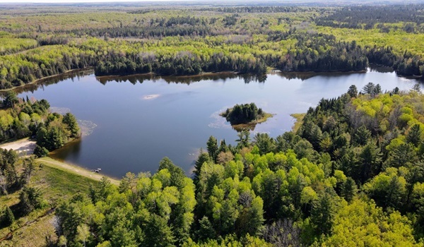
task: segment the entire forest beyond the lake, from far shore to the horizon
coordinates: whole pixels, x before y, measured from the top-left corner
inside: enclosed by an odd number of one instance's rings
[[[421,76],[422,7],[13,12],[0,20],[0,88],[88,67],[96,76],[194,75],[264,74],[270,68],[364,71],[375,63],[400,75]]]

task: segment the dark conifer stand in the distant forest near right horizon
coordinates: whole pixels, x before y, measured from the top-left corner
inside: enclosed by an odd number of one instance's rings
[[[423,4],[387,5],[387,6],[349,6],[338,8],[331,15],[319,16],[315,19],[317,25],[331,28],[377,28],[385,30],[384,23],[404,23],[403,30],[406,32],[422,32],[420,26],[424,23],[422,15]],[[411,25],[414,23],[414,25]],[[397,28],[397,27],[390,27]]]

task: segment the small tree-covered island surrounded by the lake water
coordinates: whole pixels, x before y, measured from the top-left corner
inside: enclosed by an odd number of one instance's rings
[[[225,117],[231,123],[232,128],[237,131],[243,129],[253,130],[257,123],[263,123],[273,114],[264,112],[261,108],[258,109],[256,104],[236,104],[232,108],[228,108],[220,116]]]

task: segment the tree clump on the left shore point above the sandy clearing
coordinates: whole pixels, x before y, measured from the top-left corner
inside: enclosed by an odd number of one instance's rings
[[[81,135],[75,116],[49,113],[47,100],[20,99],[13,91],[4,95],[4,109],[0,112],[0,140],[36,136],[35,155],[62,147]]]

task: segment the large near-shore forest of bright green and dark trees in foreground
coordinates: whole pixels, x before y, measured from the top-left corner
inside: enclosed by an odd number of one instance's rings
[[[59,203],[57,233],[67,246],[420,246],[414,90],[351,86],[308,110],[298,133],[242,131],[237,145],[211,136],[193,179],[167,158],[154,175],[103,179]]]

